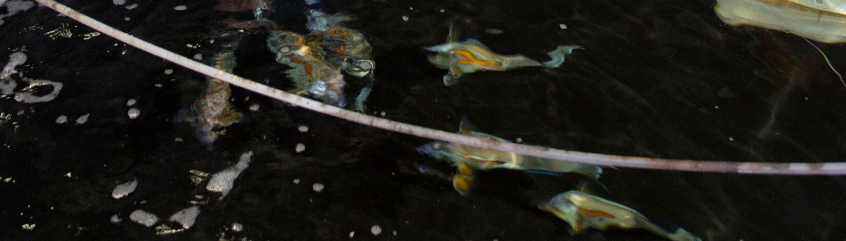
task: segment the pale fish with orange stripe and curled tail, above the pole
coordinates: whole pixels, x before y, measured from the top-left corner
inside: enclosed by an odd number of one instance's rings
[[[447,43],[426,47],[426,50],[436,52],[429,57],[429,62],[449,70],[449,74],[443,76],[444,85],[454,85],[464,74],[476,71],[505,71],[512,68],[542,66],[547,68],[558,68],[564,62],[564,54],[572,53],[574,49],[581,47],[569,45],[559,46],[551,52],[547,52],[551,60],[540,63],[534,59],[526,58],[523,55],[500,55],[492,52],[480,41],[468,39],[455,41],[455,30],[450,27],[450,36]]]

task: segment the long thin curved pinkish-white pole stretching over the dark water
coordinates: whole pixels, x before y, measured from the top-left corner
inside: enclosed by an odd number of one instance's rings
[[[516,143],[503,142],[464,134],[454,134],[437,129],[429,129],[409,123],[400,123],[385,118],[376,118],[360,112],[345,110],[334,107],[319,101],[312,101],[302,96],[290,94],[283,90],[274,89],[267,85],[261,85],[250,79],[244,79],[234,74],[229,74],[206,64],[185,58],[162,47],[157,47],[149,42],[130,36],[109,25],[105,25],[96,19],[91,19],[85,14],[68,8],[52,0],[35,0],[38,3],[67,15],[83,25],[98,30],[107,36],[123,41],[133,47],[149,52],[170,62],[177,63],[185,68],[190,68],[211,78],[221,79],[231,85],[254,91],[279,101],[288,102],[294,106],[303,107],[315,112],[321,112],[333,117],[342,118],[355,123],[379,129],[415,135],[432,140],[442,140],[462,145],[493,149],[497,151],[508,151],[528,156],[552,158],[569,162],[581,162],[600,166],[631,167],[669,171],[700,172],[700,173],[742,173],[742,174],[786,174],[786,175],[846,175],[846,162],[790,162],[790,163],[769,163],[769,162],[712,162],[693,160],[659,159],[637,156],[616,156],[599,153],[567,151],[542,147],[536,145],[520,145]]]

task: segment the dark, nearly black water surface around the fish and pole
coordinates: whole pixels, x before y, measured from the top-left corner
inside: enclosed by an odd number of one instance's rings
[[[61,3],[206,59],[221,48],[210,40],[253,19],[250,12],[216,10],[217,1]],[[131,4],[137,8],[127,9]],[[574,151],[842,162],[846,87],[821,54],[799,36],[724,25],[713,4],[326,0],[311,8],[353,16],[346,26],[370,41],[376,85],[368,114],[448,131],[466,117],[481,132]],[[179,5],[187,9],[174,10]],[[272,8],[272,18],[285,28],[307,33],[305,3],[278,0]],[[474,194],[464,197],[449,180],[415,166],[453,172],[447,162],[415,151],[430,140],[239,88],[232,102],[244,118],[225,128],[209,150],[194,127],[175,121],[200,96],[201,74],[108,36],[85,39],[95,31],[49,8],[3,20],[0,63],[13,52],[27,56],[14,68],[21,73],[12,77],[19,82],[15,91],[25,86],[22,78],[63,88],[47,102],[0,98],[2,240],[663,240],[642,231],[571,236],[566,222],[536,203],[575,189],[576,175],[492,170],[481,173]],[[558,45],[584,49],[560,68],[479,72],[447,87],[441,79],[446,71],[428,63],[422,47],[443,43],[450,21],[461,38],[476,37],[502,54],[546,61],[545,53]],[[282,72],[287,67],[276,63],[266,37],[261,28],[245,30],[233,72],[290,88]],[[815,44],[835,68],[846,69],[842,44]],[[131,107],[130,99],[136,100]],[[260,108],[250,111],[253,105]],[[133,107],[138,118],[127,114]],[[77,124],[84,115],[87,121]],[[67,123],[57,123],[60,116]],[[295,151],[298,144],[305,151]],[[219,200],[221,194],[206,190],[209,177],[196,173],[232,167],[247,151],[254,153],[252,162],[231,192]],[[135,192],[112,197],[118,183],[134,179]],[[846,239],[841,177],[606,168],[599,181],[608,191],[598,195],[706,240]],[[316,192],[315,183],[324,188]],[[167,221],[191,205],[201,210],[193,227],[179,230]],[[136,210],[161,221],[152,227],[132,222],[129,214]],[[243,230],[235,232],[233,222]],[[24,228],[30,224],[36,226]],[[371,233],[374,225],[381,234]],[[168,230],[175,233],[162,234]]]

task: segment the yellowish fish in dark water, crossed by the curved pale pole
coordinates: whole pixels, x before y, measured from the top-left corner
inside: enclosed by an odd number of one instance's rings
[[[491,134],[475,131],[475,126],[467,118],[459,125],[459,134],[511,142]],[[461,194],[469,194],[475,170],[507,168],[530,173],[557,175],[557,173],[579,173],[596,180],[602,174],[602,167],[579,162],[567,162],[549,158],[519,155],[514,152],[496,151],[442,141],[435,141],[417,148],[420,154],[450,162],[457,168],[453,177],[453,188]]]

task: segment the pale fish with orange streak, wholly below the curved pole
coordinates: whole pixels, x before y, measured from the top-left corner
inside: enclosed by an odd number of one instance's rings
[[[681,227],[674,227],[667,231],[646,219],[638,211],[580,191],[569,191],[555,195],[547,203],[538,205],[543,211],[552,212],[555,216],[568,222],[574,233],[580,233],[587,227],[606,231],[609,227],[623,229],[645,229],[658,236],[674,241],[700,241],[701,238],[688,233]]]

